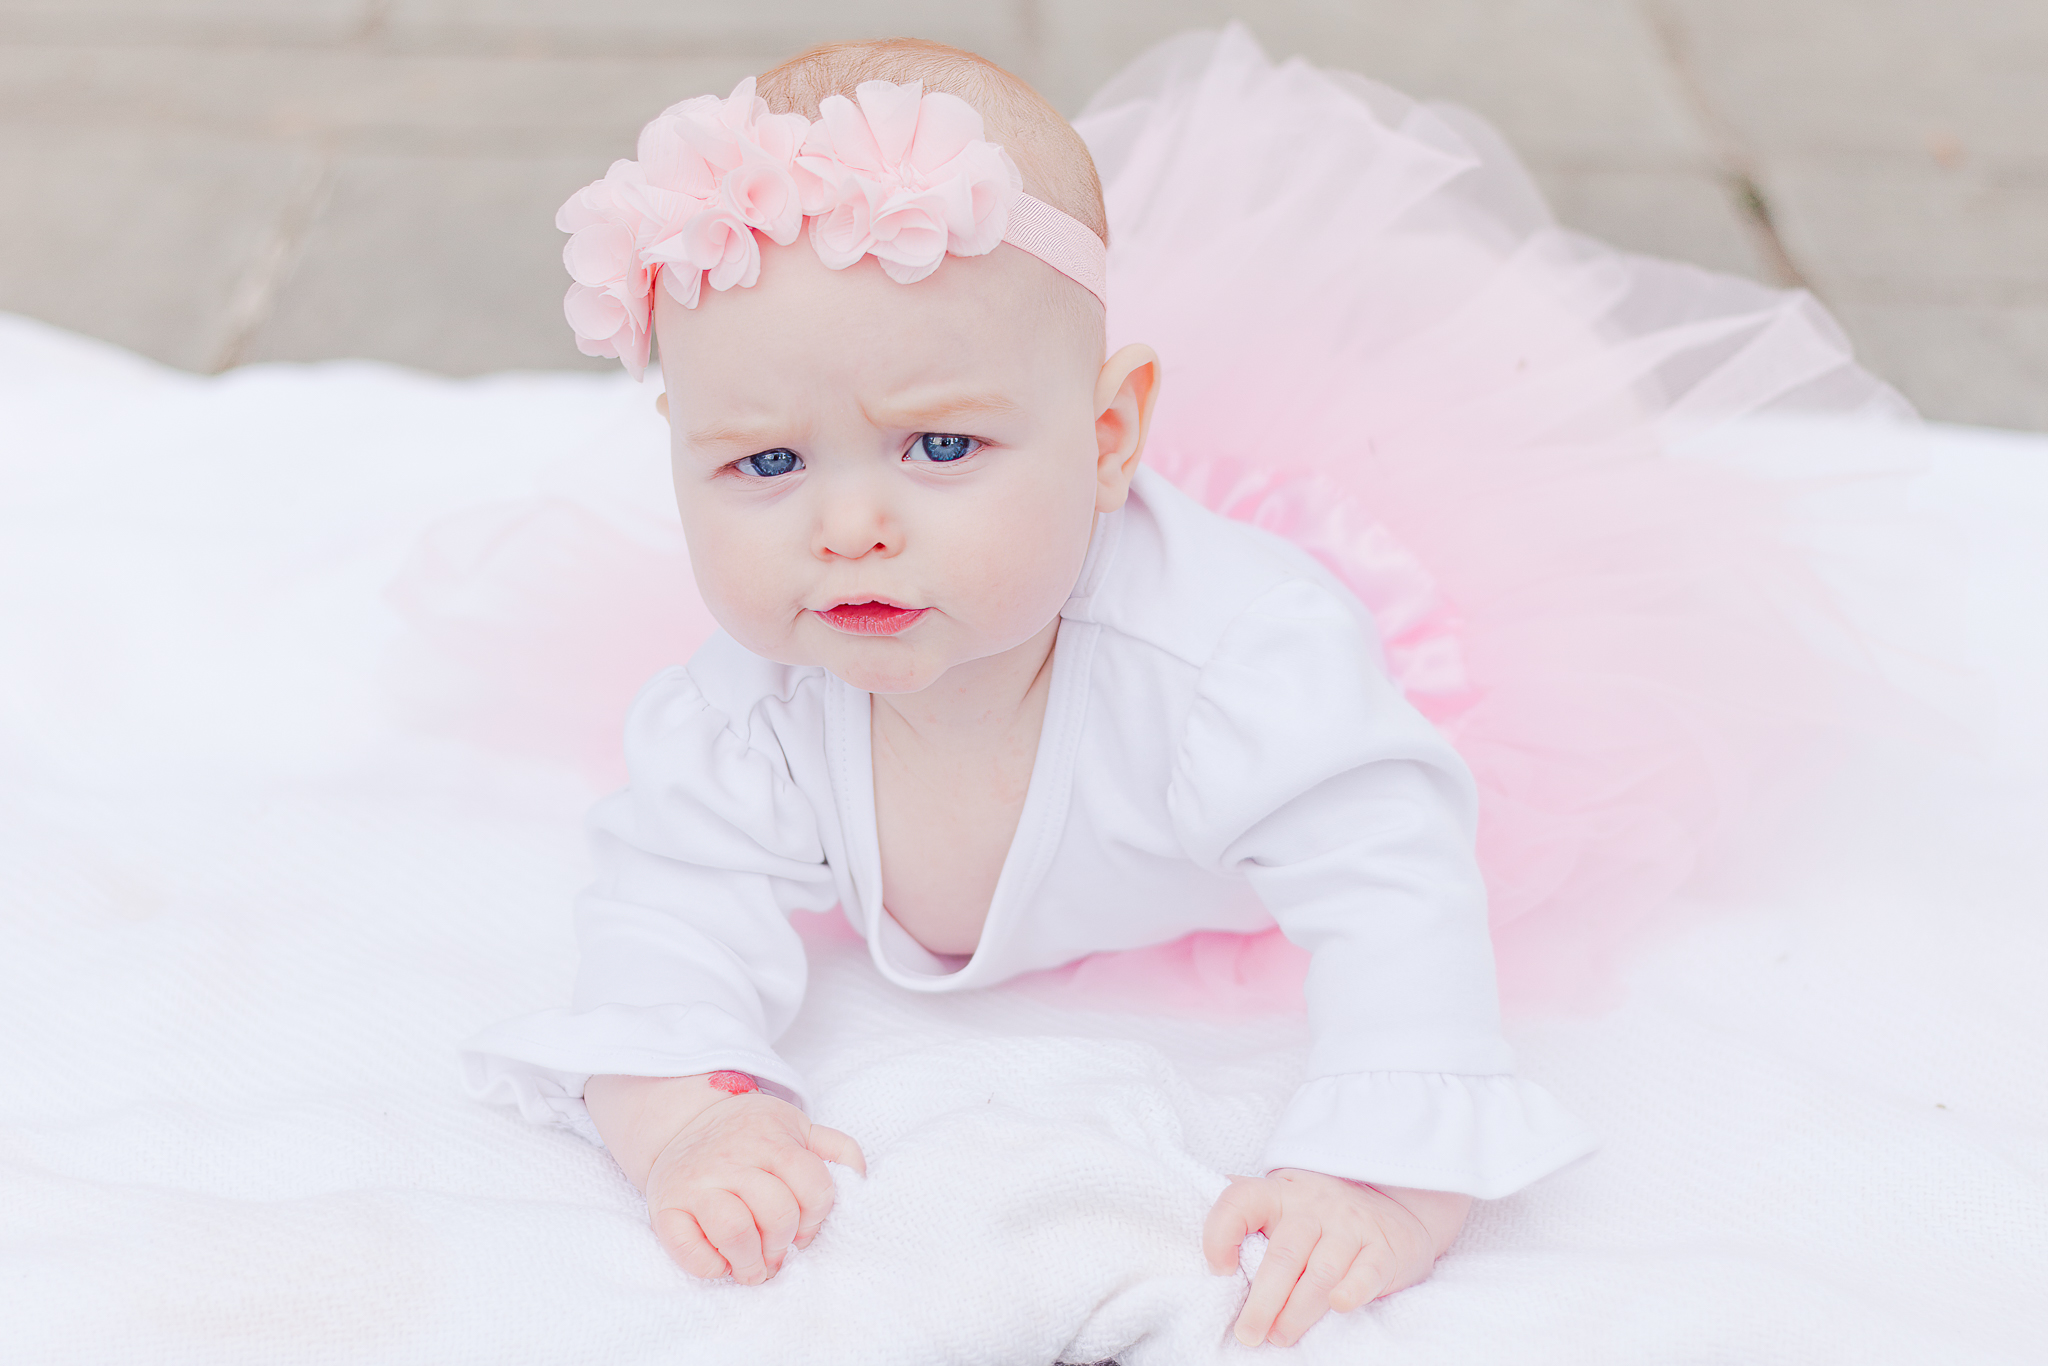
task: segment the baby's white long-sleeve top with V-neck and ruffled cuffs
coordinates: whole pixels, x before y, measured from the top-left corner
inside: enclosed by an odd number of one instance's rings
[[[1313,1044],[1268,1171],[1501,1196],[1593,1147],[1511,1075],[1473,780],[1386,678],[1364,606],[1294,545],[1149,471],[1098,518],[965,963],[883,909],[868,707],[725,635],[655,676],[627,719],[631,784],[590,817],[573,1004],[471,1040],[471,1092],[586,1137],[592,1075],[729,1067],[803,1104],[774,1051],[805,989],[797,909],[842,907],[909,991],[1278,924],[1311,954]]]

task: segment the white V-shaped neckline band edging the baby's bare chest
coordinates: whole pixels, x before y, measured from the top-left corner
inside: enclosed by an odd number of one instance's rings
[[[1067,801],[1073,793],[1073,764],[1081,748],[1087,676],[1096,655],[1100,627],[1085,618],[1087,600],[1100,588],[1120,539],[1122,518],[1104,514],[1081,561],[1075,590],[1061,608],[1059,633],[1053,637],[1053,678],[1047,684],[1044,721],[1038,723],[1038,752],[1032,756],[1030,780],[1024,786],[1024,809],[1016,834],[1004,852],[995,893],[981,917],[975,952],[936,954],[920,944],[895,915],[883,907],[881,825],[874,815],[874,696],[838,676],[827,674],[836,705],[827,709],[834,768],[838,770],[840,827],[846,838],[846,858],[854,895],[860,899],[862,936],[868,956],[889,981],[922,989],[950,991],[1008,977],[989,963],[1001,956],[1004,936],[1016,922],[1016,907],[1030,901],[1044,881],[1059,850],[1059,834],[1067,825]],[[950,963],[948,963],[950,958]]]

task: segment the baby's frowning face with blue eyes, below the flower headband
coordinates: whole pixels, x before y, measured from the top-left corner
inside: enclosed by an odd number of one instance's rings
[[[1130,477],[1098,446],[1100,322],[1014,248],[915,285],[874,260],[827,270],[801,238],[762,256],[758,285],[696,309],[657,291],[676,506],[711,614],[868,692],[1032,639]]]

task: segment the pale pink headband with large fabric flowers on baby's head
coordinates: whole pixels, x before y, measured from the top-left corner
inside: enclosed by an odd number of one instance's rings
[[[817,123],[772,115],[754,78],[731,96],[700,94],[641,129],[639,160],[612,162],[569,197],[555,227],[575,279],[561,301],[586,356],[618,356],[639,377],[653,340],[655,283],[694,309],[705,281],[760,279],[754,233],[778,246],[811,223],[811,250],[834,270],[874,256],[915,285],[950,256],[1008,242],[1102,299],[1102,238],[1024,193],[1010,154],[981,139],[981,115],[924,84],[870,80],[860,100],[831,94]]]

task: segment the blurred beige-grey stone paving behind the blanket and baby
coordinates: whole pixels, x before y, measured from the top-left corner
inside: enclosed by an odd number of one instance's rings
[[[553,213],[664,104],[909,33],[1073,115],[1229,18],[1479,111],[1571,227],[1812,289],[1929,418],[2048,430],[2048,0],[0,0],[0,311],[604,369]]]

